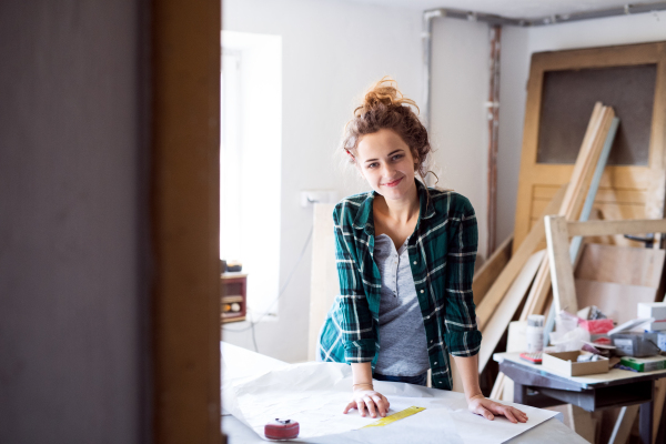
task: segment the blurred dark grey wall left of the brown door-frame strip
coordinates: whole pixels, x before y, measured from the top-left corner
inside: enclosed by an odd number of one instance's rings
[[[140,0],[0,2],[0,442],[148,442]]]

